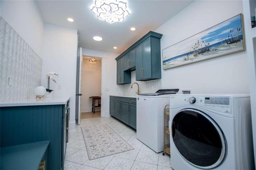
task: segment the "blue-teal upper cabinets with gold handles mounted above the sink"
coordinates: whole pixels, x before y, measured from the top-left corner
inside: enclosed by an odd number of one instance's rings
[[[128,79],[130,72],[134,70],[136,70],[136,81],[161,79],[161,38],[162,34],[150,31],[116,57],[117,84],[131,83]]]

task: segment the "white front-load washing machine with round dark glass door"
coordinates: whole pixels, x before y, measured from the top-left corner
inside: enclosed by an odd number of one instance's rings
[[[171,95],[174,170],[253,170],[249,95]]]

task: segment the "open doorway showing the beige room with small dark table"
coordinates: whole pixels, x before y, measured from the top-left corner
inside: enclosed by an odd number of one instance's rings
[[[81,119],[101,117],[102,59],[83,57]]]

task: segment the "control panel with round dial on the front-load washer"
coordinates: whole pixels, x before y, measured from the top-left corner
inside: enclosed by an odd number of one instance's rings
[[[200,106],[221,113],[231,114],[230,96],[173,95],[170,97],[170,107],[180,105]]]

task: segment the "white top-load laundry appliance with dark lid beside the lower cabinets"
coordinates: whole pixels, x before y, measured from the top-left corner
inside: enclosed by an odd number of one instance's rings
[[[170,102],[170,94],[178,91],[160,89],[136,96],[136,137],[157,153],[164,150],[164,107]]]

